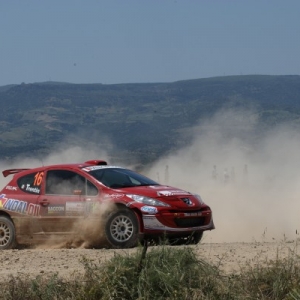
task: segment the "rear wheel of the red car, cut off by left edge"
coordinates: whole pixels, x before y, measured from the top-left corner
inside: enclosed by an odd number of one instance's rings
[[[16,230],[8,217],[0,217],[0,250],[13,249],[16,243]]]

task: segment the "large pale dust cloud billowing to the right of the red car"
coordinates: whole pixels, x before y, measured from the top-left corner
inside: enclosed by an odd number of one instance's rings
[[[260,132],[255,111],[222,110],[191,129],[190,145],[146,175],[201,195],[216,229],[204,242],[294,240],[300,231],[300,133]]]

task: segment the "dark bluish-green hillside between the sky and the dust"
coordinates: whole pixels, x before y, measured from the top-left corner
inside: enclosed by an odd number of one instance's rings
[[[223,107],[255,108],[260,128],[300,124],[300,76],[228,76],[172,83],[0,87],[0,156],[40,156],[69,142],[114,145],[149,162],[189,142],[189,129]],[[71,138],[70,138],[71,136]],[[112,155],[118,152],[112,149]]]

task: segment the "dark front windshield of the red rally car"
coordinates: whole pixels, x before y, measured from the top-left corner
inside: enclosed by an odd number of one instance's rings
[[[110,188],[158,185],[157,182],[141,174],[121,168],[101,168],[92,170],[89,174]]]

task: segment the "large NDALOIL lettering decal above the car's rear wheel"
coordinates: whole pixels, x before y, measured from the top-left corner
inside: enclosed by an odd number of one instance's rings
[[[9,199],[5,196],[5,194],[0,195],[1,208],[24,215],[39,216],[40,205],[17,199]]]

